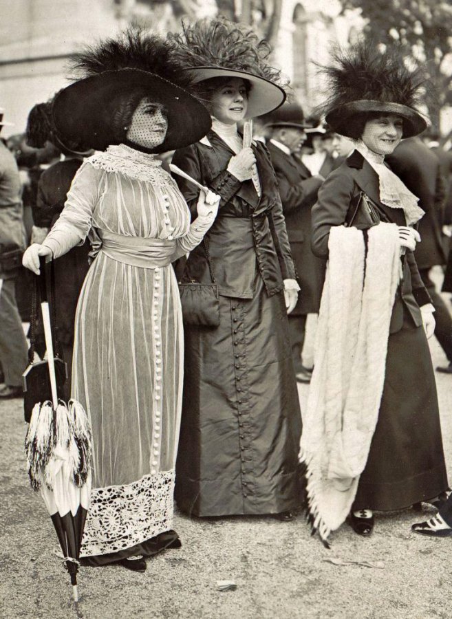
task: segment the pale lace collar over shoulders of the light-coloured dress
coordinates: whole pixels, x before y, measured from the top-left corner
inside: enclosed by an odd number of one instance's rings
[[[125,146],[109,146],[103,153],[92,155],[87,162],[96,170],[124,174],[129,178],[158,184],[161,188],[177,188],[173,177],[162,168],[154,155],[146,155]]]

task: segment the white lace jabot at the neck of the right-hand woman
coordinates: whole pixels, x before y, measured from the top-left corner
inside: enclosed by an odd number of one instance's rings
[[[402,208],[408,226],[416,224],[416,221],[424,215],[424,211],[418,206],[416,195],[411,193],[400,178],[385,166],[385,155],[371,151],[363,140],[356,140],[355,148],[378,174],[381,202],[390,208]]]

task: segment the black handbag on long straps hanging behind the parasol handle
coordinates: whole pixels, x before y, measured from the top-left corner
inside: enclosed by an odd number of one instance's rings
[[[50,387],[49,366],[47,360],[35,361],[34,350],[36,346],[36,323],[38,319],[38,301],[47,300],[47,265],[41,260],[41,274],[34,276],[32,290],[32,310],[30,314],[30,349],[28,350],[28,365],[22,375],[23,381],[23,413],[25,422],[30,423],[32,410],[38,402],[52,401],[52,389]],[[55,299],[54,299],[54,265],[50,263],[50,311],[52,321],[52,332],[54,337],[54,367],[56,375],[56,393],[58,399],[67,400],[66,382],[67,382],[67,365],[63,360],[61,345],[58,341],[55,328]]]

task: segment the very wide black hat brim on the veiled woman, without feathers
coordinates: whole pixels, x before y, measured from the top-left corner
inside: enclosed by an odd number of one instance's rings
[[[57,94],[53,117],[58,138],[98,151],[118,144],[122,140],[114,137],[111,111],[118,96],[136,90],[165,107],[168,131],[158,151],[193,144],[210,129],[210,114],[186,90],[151,72],[125,68],[78,80]]]

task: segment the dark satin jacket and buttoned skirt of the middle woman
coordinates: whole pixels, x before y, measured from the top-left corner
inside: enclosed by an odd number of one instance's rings
[[[195,516],[275,514],[299,503],[301,414],[283,297],[295,272],[275,172],[265,146],[252,149],[260,199],[252,181],[226,171],[234,153],[213,131],[173,158],[222,197],[206,235],[220,325],[184,327],[175,498]],[[177,182],[195,214],[199,192]],[[203,244],[183,279],[211,283]]]

